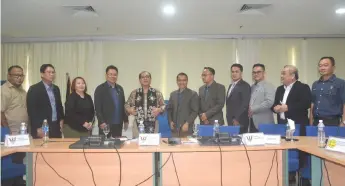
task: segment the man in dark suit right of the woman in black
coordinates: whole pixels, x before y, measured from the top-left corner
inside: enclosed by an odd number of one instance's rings
[[[105,70],[106,82],[99,85],[95,90],[95,110],[98,119],[99,133],[108,125],[108,136],[122,136],[122,128],[128,128],[128,116],[125,112],[125,93],[122,86],[116,83],[118,69],[110,65]],[[124,126],[123,126],[124,125]]]

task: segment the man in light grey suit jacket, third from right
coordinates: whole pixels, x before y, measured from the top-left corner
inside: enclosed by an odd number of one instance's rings
[[[256,132],[259,124],[274,123],[271,107],[274,103],[275,87],[265,80],[265,65],[255,64],[252,75],[255,83],[251,88],[248,115],[251,118],[250,130]]]

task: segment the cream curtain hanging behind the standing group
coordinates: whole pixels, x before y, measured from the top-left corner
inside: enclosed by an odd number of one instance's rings
[[[182,41],[89,41],[50,43],[5,43],[1,50],[2,80],[7,68],[20,65],[27,77],[25,86],[40,81],[39,68],[51,63],[56,68],[55,84],[60,87],[63,102],[66,92],[66,73],[71,78],[86,79],[88,92],[93,96],[97,85],[105,81],[105,68],[112,64],[119,68],[119,84],[126,93],[139,86],[138,74],[152,73],[152,86],[168,99],[177,88],[176,75],[185,72],[189,87],[195,91],[202,85],[204,66],[216,70],[216,81],[230,84],[230,66],[238,62],[244,66],[244,79],[251,83],[254,63],[263,63],[267,79],[280,85],[280,71],[286,64],[299,68],[300,80],[311,85],[319,75],[317,63],[322,56],[336,59],[336,74],[345,78],[345,39],[223,39]]]

